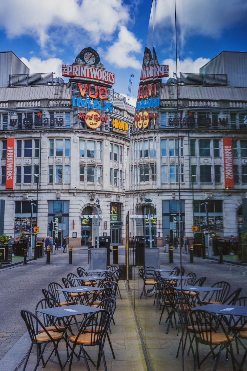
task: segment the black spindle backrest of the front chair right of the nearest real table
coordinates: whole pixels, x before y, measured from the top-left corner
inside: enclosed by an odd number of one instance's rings
[[[81,334],[87,332],[91,335],[87,338],[87,345],[99,345],[100,340],[109,327],[109,319],[110,314],[104,309],[91,313],[80,325],[80,330],[74,342],[77,342]],[[95,328],[97,328],[97,331],[95,331]]]

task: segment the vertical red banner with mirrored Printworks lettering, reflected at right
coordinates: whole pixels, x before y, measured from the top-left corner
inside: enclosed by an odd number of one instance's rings
[[[223,138],[223,157],[224,157],[225,187],[234,188],[233,141],[231,138]]]

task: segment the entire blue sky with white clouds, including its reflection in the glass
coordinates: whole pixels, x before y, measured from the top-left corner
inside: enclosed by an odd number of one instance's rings
[[[160,64],[175,69],[174,0],[155,0]],[[56,72],[92,46],[114,89],[136,97],[151,0],[8,0],[0,8],[1,51],[12,50],[30,72]],[[222,50],[247,51],[246,0],[176,0],[178,72],[198,69]],[[134,99],[133,101],[134,102]]]

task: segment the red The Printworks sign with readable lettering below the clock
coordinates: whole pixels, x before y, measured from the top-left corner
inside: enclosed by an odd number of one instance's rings
[[[115,83],[115,75],[102,68],[89,67],[85,65],[62,65],[62,76],[81,77],[85,79],[94,79],[98,81]]]

